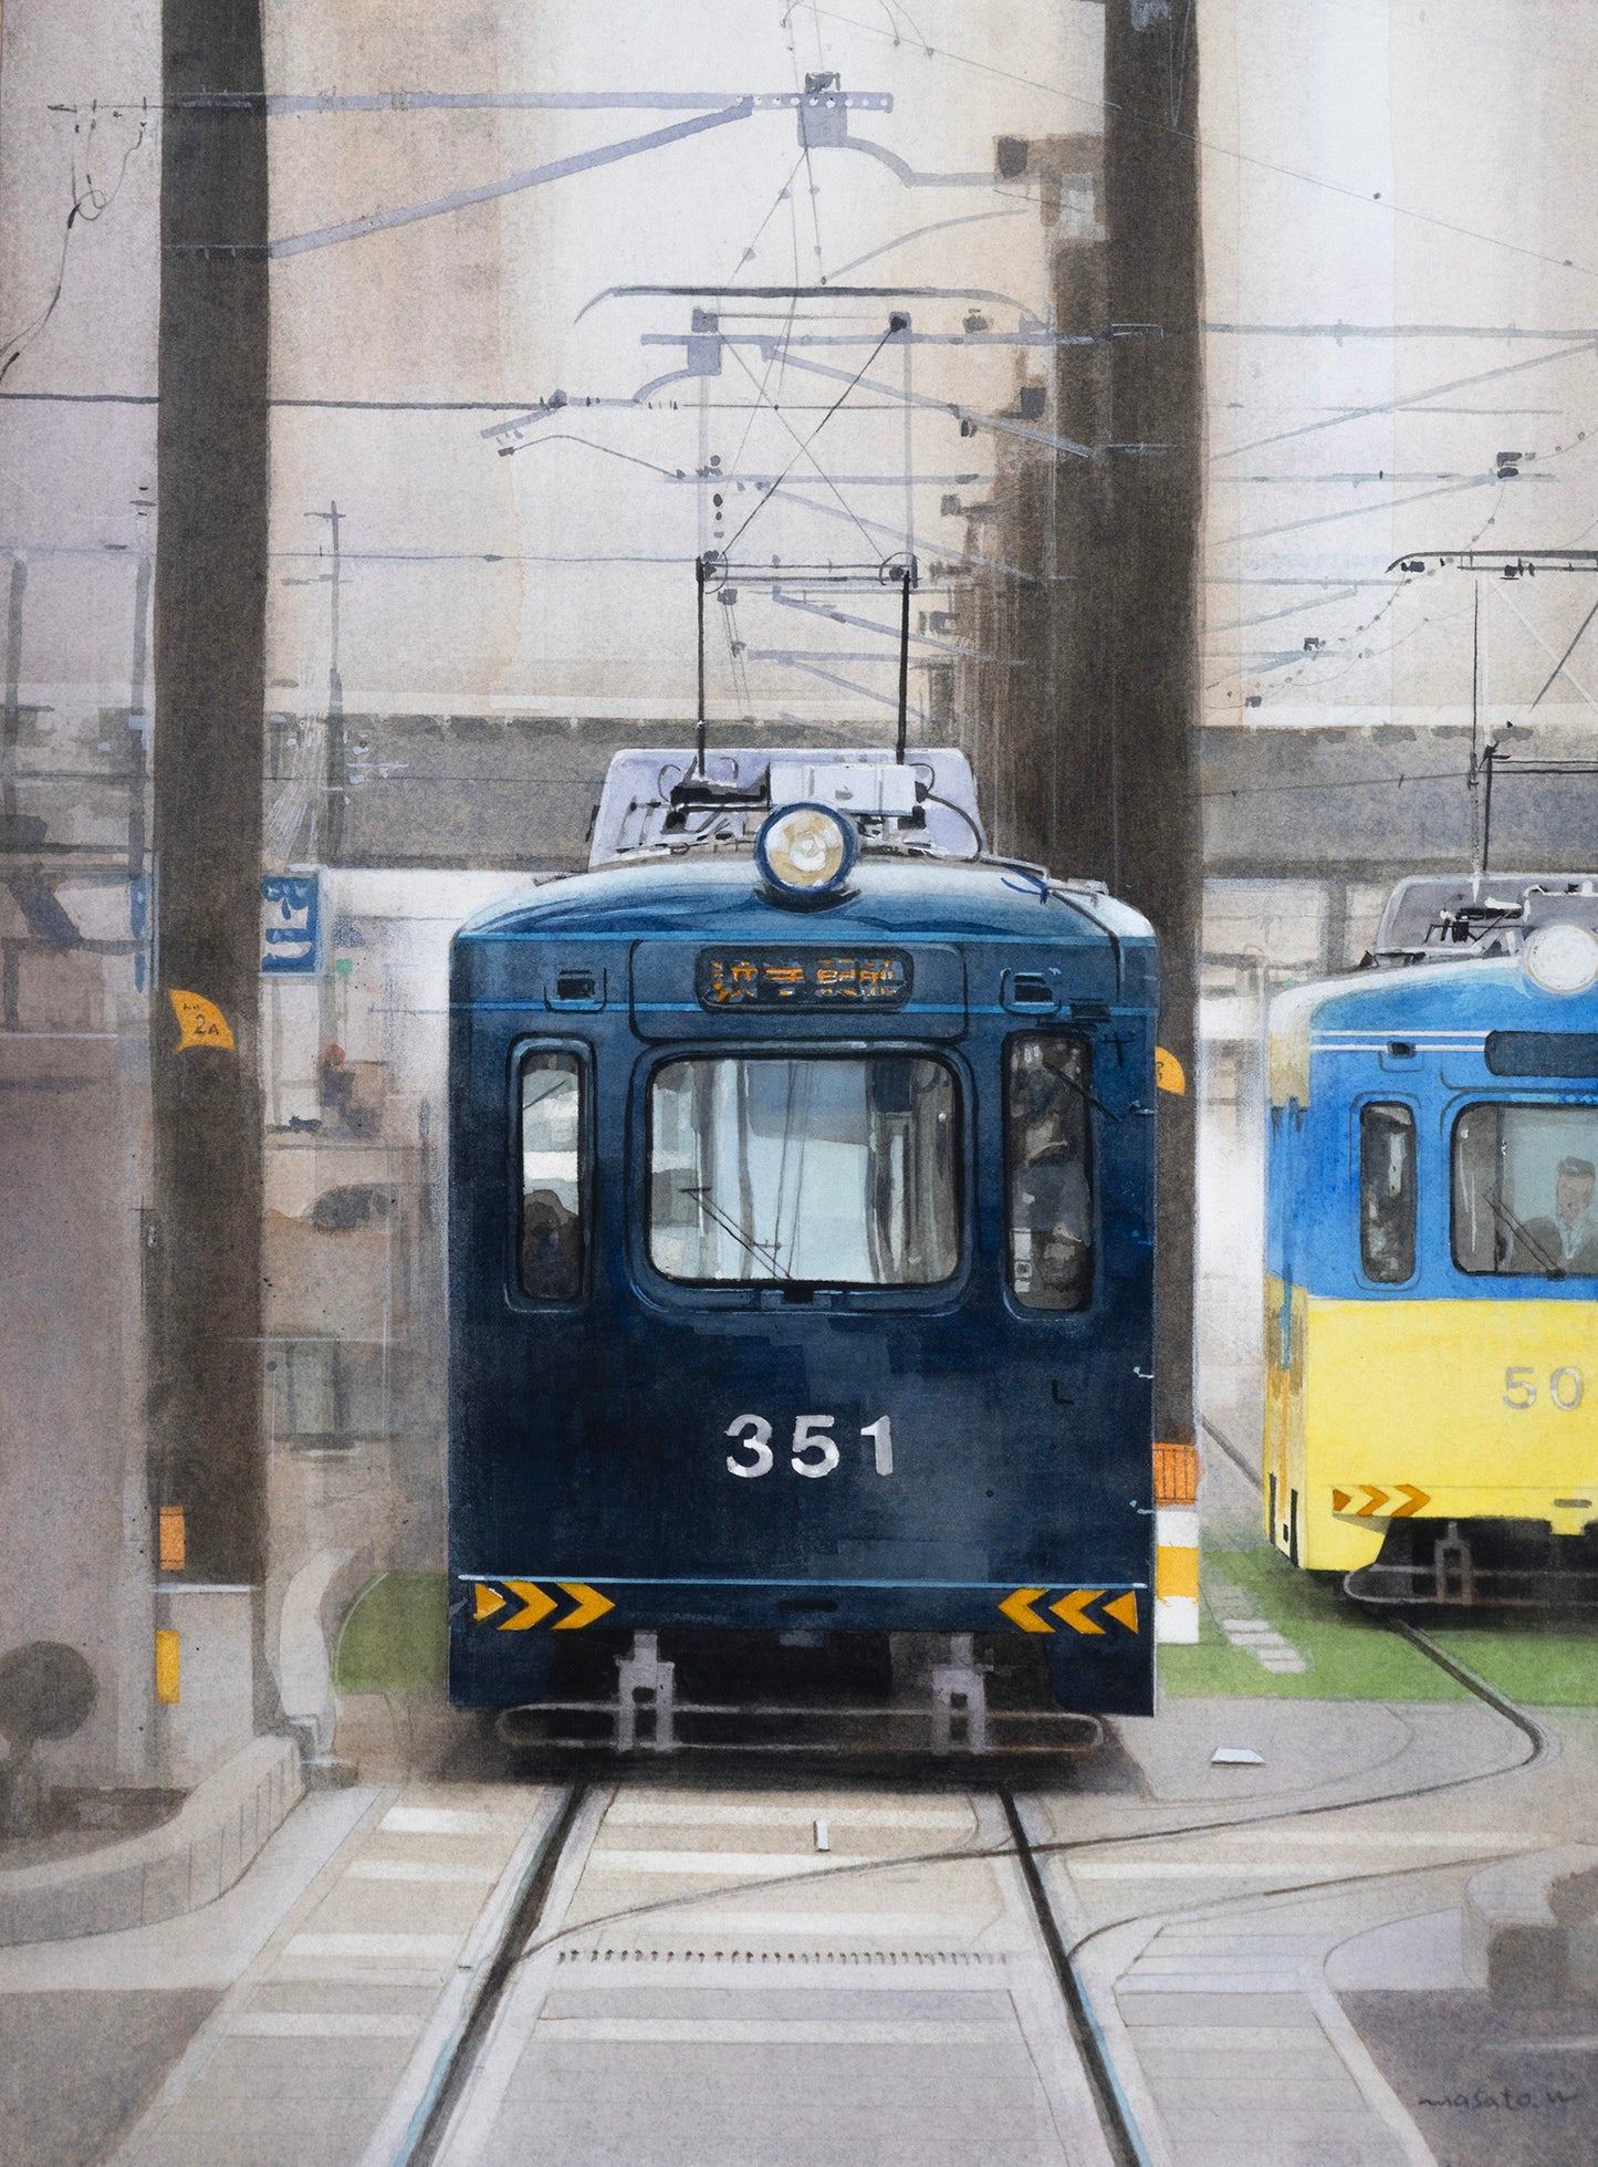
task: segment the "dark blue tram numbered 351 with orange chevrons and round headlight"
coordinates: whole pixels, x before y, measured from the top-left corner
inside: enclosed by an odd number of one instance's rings
[[[1154,940],[959,754],[624,754],[450,990],[450,1697],[1033,1634],[1152,1705]]]

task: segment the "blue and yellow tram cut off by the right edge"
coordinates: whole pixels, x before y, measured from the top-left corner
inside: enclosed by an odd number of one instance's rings
[[[1401,884],[1271,1008],[1265,1515],[1390,1601],[1598,1597],[1598,882]]]

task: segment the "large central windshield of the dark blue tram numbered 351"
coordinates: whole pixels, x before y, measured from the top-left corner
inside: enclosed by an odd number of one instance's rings
[[[695,1285],[935,1285],[959,1261],[955,1129],[935,1060],[667,1062],[650,1086],[650,1261]]]

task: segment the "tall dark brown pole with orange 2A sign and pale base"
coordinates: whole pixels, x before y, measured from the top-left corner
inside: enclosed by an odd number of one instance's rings
[[[191,1766],[251,1727],[260,1422],[260,854],[266,637],[266,115],[258,0],[162,0],[147,1235],[158,1697]],[[232,1036],[180,1051],[173,992]],[[201,1597],[227,1601],[204,1619]],[[175,1636],[175,1638],[173,1638]],[[182,1640],[184,1673],[173,1651]],[[188,1664],[230,1649],[191,1692]],[[199,1686],[201,1679],[195,1679]],[[227,1736],[193,1734],[227,1701]],[[243,1701],[243,1708],[240,1708]],[[178,1755],[184,1760],[184,1753]]]

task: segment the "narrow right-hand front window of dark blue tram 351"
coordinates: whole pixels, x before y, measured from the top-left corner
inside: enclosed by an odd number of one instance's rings
[[[1005,1047],[1009,1285],[1024,1309],[1087,1309],[1093,1294],[1091,1060],[1085,1038]]]

